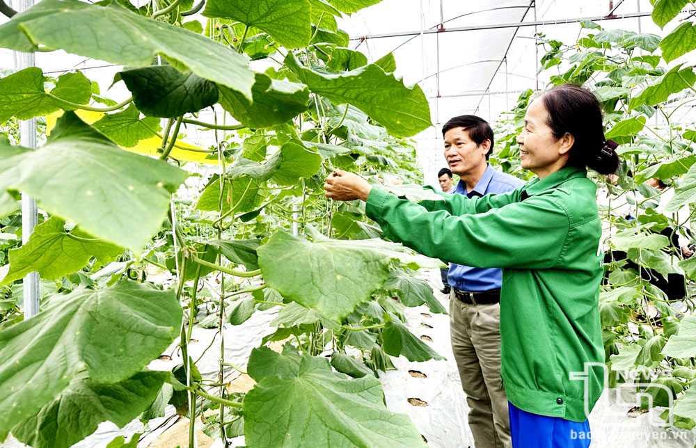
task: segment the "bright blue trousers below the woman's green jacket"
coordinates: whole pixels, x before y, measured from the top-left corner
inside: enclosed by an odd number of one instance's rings
[[[508,402],[512,448],[590,447],[590,422],[528,413]]]

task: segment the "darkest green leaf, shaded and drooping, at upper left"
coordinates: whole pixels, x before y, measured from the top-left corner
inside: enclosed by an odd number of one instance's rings
[[[138,109],[153,117],[173,118],[198,112],[218,100],[215,83],[195,73],[182,73],[171,65],[123,70],[120,77]]]

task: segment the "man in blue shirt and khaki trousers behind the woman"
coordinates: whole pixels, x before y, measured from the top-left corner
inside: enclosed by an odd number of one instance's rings
[[[524,184],[488,163],[493,130],[475,115],[446,122],[445,160],[459,182],[450,193],[482,196],[505,193]],[[466,250],[466,248],[462,248]],[[450,264],[450,336],[461,387],[469,406],[469,427],[476,448],[510,447],[507,397],[500,376],[500,269]]]

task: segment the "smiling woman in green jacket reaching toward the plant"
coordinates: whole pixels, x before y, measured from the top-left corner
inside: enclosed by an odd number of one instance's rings
[[[587,447],[587,415],[604,387],[599,321],[601,225],[586,167],[614,173],[601,107],[579,86],[535,99],[518,136],[522,168],[537,177],[503,194],[444,195],[420,204],[336,170],[326,197],[361,199],[393,241],[430,257],[503,269],[502,376],[512,445]]]

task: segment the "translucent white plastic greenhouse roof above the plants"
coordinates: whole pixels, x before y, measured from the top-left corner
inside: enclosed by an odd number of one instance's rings
[[[436,173],[445,166],[444,122],[464,113],[492,122],[516,104],[521,92],[546,85],[549,71],[537,76],[544,49],[537,49],[536,33],[571,44],[583,32],[578,19],[593,19],[604,29],[661,36],[679,24],[674,20],[660,30],[651,11],[649,0],[382,0],[345,15],[339,26],[351,36],[349,47],[365,53],[369,61],[393,52],[397,76],[406,84],[418,83],[425,92],[435,126],[415,139],[424,181],[436,185]],[[684,12],[679,15],[686,17]],[[200,15],[193,18],[205,22]],[[0,17],[0,23],[6,20]],[[693,53],[681,59],[696,63]],[[63,51],[38,53],[36,64],[54,76],[79,68],[104,90],[120,71],[118,66]],[[255,61],[253,68],[264,70],[267,65]],[[12,52],[0,49],[0,69],[11,67]],[[123,99],[129,93],[117,83],[108,95]],[[189,138],[201,145],[213,143],[209,132]]]

